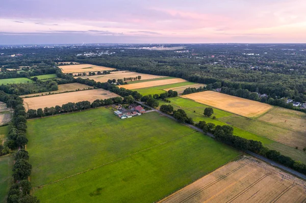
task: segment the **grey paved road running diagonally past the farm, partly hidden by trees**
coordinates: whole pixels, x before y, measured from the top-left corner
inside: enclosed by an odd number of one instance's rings
[[[171,115],[169,115],[169,114],[167,114],[167,113],[164,113],[164,112],[162,112],[162,111],[160,111],[160,110],[157,110],[157,109],[155,109],[155,108],[152,108],[152,107],[150,107],[150,106],[144,104],[143,102],[138,102],[138,101],[136,101],[136,102],[139,103],[139,104],[141,104],[141,105],[143,105],[143,106],[145,106],[145,107],[147,107],[147,108],[150,108],[150,109],[151,109],[151,110],[149,110],[150,112],[151,112],[151,111],[156,111],[156,112],[158,112],[158,113],[164,115],[165,117],[168,117],[168,118],[170,118],[170,119],[175,120]],[[176,120],[175,120],[175,121],[176,121]],[[215,138],[215,136],[214,136],[213,134],[211,134],[211,133],[204,133],[201,129],[199,129],[199,128],[193,126],[193,125],[190,125],[190,124],[187,124],[187,123],[184,123],[183,125],[188,126],[188,127],[192,128],[192,129],[194,129],[194,130],[196,130],[196,131],[199,131],[199,132],[201,132],[201,133],[203,133],[203,134],[206,134],[206,135],[208,135],[208,136],[210,136],[210,137]],[[270,160],[270,159],[267,159],[266,157],[263,157],[263,156],[261,156],[261,155],[258,155],[258,154],[256,154],[256,153],[253,153],[253,152],[250,152],[250,151],[246,151],[246,153],[249,154],[249,155],[252,155],[252,156],[254,156],[254,157],[256,157],[256,158],[258,158],[258,159],[260,159],[260,160],[262,160],[262,161],[265,161],[265,162],[271,164],[272,166],[276,166],[276,167],[278,167],[278,168],[281,168],[281,169],[283,169],[283,170],[285,170],[285,171],[287,171],[287,172],[289,172],[289,173],[295,175],[296,177],[298,177],[298,178],[300,178],[300,179],[306,180],[306,176],[303,175],[303,174],[300,173],[300,172],[297,172],[297,171],[295,171],[295,170],[293,170],[293,169],[291,169],[291,168],[288,168],[288,167],[286,167],[286,166],[283,166],[282,164],[276,163],[276,162],[274,162],[274,161],[272,161],[272,160]]]

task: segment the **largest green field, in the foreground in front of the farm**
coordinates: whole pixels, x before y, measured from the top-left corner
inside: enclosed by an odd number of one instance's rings
[[[27,136],[42,202],[154,202],[239,156],[156,112],[120,120],[97,108],[31,120]]]

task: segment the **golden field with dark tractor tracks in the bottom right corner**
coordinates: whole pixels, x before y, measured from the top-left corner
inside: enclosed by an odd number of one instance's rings
[[[161,200],[176,202],[305,202],[306,182],[251,157],[228,163]]]

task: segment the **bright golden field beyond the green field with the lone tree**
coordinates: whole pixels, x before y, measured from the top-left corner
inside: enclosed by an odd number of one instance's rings
[[[234,97],[213,91],[205,91],[181,96],[196,102],[216,107],[244,117],[259,117],[272,108],[269,104]]]

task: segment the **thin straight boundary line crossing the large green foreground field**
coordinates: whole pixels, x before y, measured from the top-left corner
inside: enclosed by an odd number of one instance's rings
[[[127,158],[127,157],[131,157],[131,156],[136,155],[136,154],[138,154],[138,153],[141,153],[141,152],[144,152],[144,151],[147,151],[147,150],[150,150],[150,149],[159,147],[159,146],[161,146],[161,145],[163,145],[163,144],[167,144],[167,143],[169,143],[169,142],[172,142],[172,141],[181,139],[181,138],[186,137],[186,136],[188,136],[188,135],[190,135],[190,134],[193,134],[193,133],[195,133],[195,132],[197,132],[197,131],[193,131],[193,132],[187,133],[187,134],[185,134],[185,135],[183,135],[183,136],[180,136],[180,137],[176,137],[176,138],[170,139],[170,140],[168,140],[168,141],[159,143],[159,144],[157,144],[157,145],[155,145],[155,146],[152,146],[152,147],[149,147],[149,148],[147,148],[147,149],[140,150],[140,151],[138,151],[138,152],[135,152],[135,153],[132,153],[132,154],[123,156],[123,157],[121,157],[121,158],[115,159],[115,160],[110,161],[110,162],[108,162],[108,163],[105,163],[105,164],[102,164],[102,165],[98,165],[98,166],[93,167],[93,168],[89,168],[89,169],[84,170],[84,171],[82,171],[82,172],[74,173],[73,175],[67,176],[67,177],[65,177],[65,178],[62,178],[62,179],[59,179],[59,180],[56,180],[56,181],[53,181],[53,182],[50,182],[50,183],[47,183],[47,184],[44,184],[44,185],[40,185],[40,186],[38,186],[38,187],[33,187],[32,189],[35,191],[35,190],[37,190],[37,189],[43,188],[43,187],[48,186],[48,185],[52,185],[52,184],[54,184],[54,183],[63,181],[63,180],[65,180],[65,179],[68,179],[68,178],[71,178],[71,177],[74,177],[74,176],[77,176],[77,175],[81,175],[81,174],[83,174],[83,173],[85,173],[85,172],[88,172],[88,171],[91,171],[91,170],[94,170],[94,169],[97,169],[97,168],[100,168],[100,167],[103,167],[103,166],[112,164],[112,163],[117,162],[117,161],[119,161],[119,160],[121,160],[121,159],[124,159],[124,158]]]

